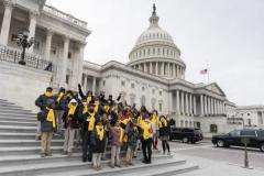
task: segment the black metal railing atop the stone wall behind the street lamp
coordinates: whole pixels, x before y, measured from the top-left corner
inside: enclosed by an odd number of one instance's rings
[[[18,64],[21,59],[21,51],[0,45],[0,61]],[[46,72],[53,72],[54,67],[51,62],[44,61],[40,55],[25,53],[25,66]]]

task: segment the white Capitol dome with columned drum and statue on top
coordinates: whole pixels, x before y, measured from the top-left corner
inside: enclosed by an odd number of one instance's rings
[[[169,33],[158,25],[158,20],[153,4],[150,28],[136,40],[128,65],[148,74],[184,79],[186,65],[180,59],[180,51]]]

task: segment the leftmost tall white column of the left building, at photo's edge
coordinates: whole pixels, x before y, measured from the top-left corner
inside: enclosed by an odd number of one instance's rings
[[[4,6],[4,12],[3,12],[1,34],[0,34],[0,44],[7,46],[11,18],[12,18],[13,3],[10,0],[3,0],[3,6]]]

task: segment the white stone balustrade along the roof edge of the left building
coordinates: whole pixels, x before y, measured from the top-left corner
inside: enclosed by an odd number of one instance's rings
[[[61,18],[63,20],[66,20],[66,21],[68,21],[70,23],[74,23],[74,24],[76,24],[76,25],[78,25],[80,28],[85,28],[85,29],[87,28],[87,22],[78,20],[78,19],[76,19],[75,16],[73,16],[70,14],[67,14],[65,12],[62,12],[62,11],[57,10],[54,7],[50,7],[50,6],[45,4],[44,8],[43,8],[43,11],[45,11],[47,13],[51,13],[51,14],[53,14],[55,16],[58,16],[58,18]]]

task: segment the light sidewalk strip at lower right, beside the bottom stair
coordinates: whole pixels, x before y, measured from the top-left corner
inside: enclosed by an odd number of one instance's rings
[[[263,168],[246,169],[240,165],[182,154],[175,154],[174,157],[186,158],[188,162],[199,165],[199,169],[179,174],[179,176],[264,176]]]

